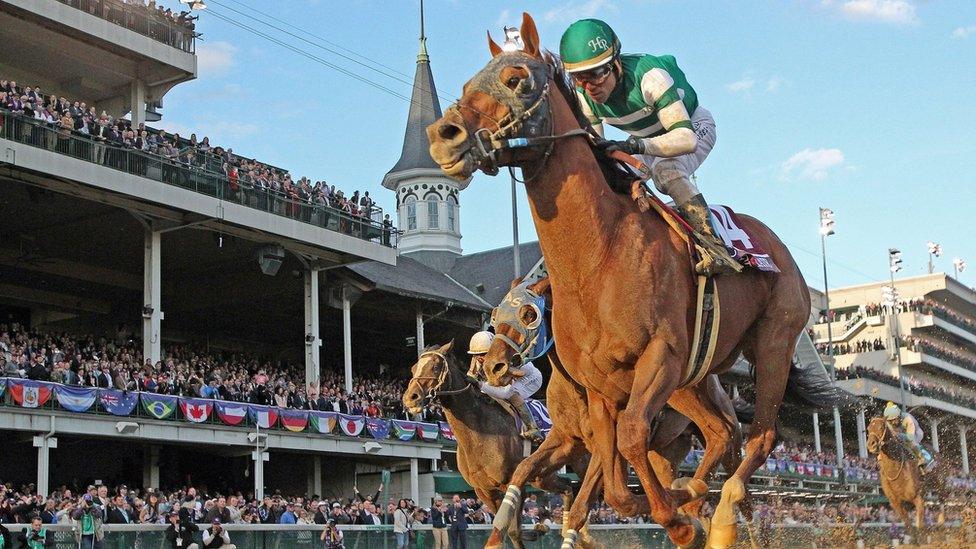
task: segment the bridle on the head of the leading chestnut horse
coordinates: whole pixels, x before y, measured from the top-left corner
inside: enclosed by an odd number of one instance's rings
[[[460,111],[461,109],[467,109],[487,117],[492,121],[492,123],[495,124],[495,126],[497,126],[494,131],[491,131],[488,128],[479,128],[477,131],[475,131],[471,139],[472,143],[461,151],[461,157],[466,154],[470,154],[471,159],[474,161],[475,166],[478,169],[487,175],[497,175],[499,169],[498,157],[501,152],[544,146],[545,151],[542,154],[542,160],[539,163],[539,167],[534,173],[532,173],[531,176],[525,177],[525,179],[522,181],[522,183],[528,183],[542,173],[546,162],[552,155],[553,147],[555,146],[556,141],[577,136],[592,138],[592,134],[583,128],[569,130],[559,135],[553,134],[552,104],[549,101],[549,94],[551,93],[550,84],[552,83],[553,78],[555,78],[555,75],[553,65],[546,63],[546,66],[548,67],[548,71],[546,72],[546,84],[542,87],[542,92],[531,105],[526,107],[525,110],[523,110],[522,113],[517,116],[512,114],[512,109],[510,108],[507,115],[502,117],[500,120],[496,120],[487,113],[479,111],[474,107],[461,104],[460,100],[458,100],[448,109],[448,111],[454,110],[457,112],[458,118],[460,118],[462,121],[464,120],[464,117],[461,116]],[[494,96],[492,97],[494,98]],[[540,114],[543,105],[545,105],[549,116],[539,119],[537,115]],[[525,133],[528,135],[518,134],[518,132],[523,128],[527,130]],[[549,135],[542,135],[543,133],[548,133]],[[514,178],[514,166],[510,165],[508,169]]]

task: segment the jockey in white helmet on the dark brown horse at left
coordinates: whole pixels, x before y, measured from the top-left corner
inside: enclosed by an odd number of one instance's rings
[[[468,344],[468,354],[471,355],[471,367],[468,369],[468,378],[472,377],[484,367],[485,354],[491,347],[491,342],[495,336],[491,332],[478,332],[471,336]],[[542,372],[532,365],[531,362],[524,362],[520,367],[511,367],[513,374],[512,381],[504,387],[494,387],[487,382],[478,381],[481,392],[496,399],[508,402],[522,419],[522,437],[533,442],[542,442],[542,431],[532,417],[526,399],[535,394],[542,387]]]

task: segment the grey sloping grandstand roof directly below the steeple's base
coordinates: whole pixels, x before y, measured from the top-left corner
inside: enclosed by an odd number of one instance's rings
[[[493,307],[490,305],[492,302],[478,297],[450,275],[410,256],[399,256],[395,266],[369,261],[349,265],[348,268],[375,284],[379,290],[441,303],[449,301],[478,311]]]

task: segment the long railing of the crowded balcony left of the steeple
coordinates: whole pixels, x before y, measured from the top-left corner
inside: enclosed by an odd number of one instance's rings
[[[188,189],[383,246],[396,247],[398,231],[369,217],[353,216],[324,204],[292,200],[254,187],[246,178],[232,181],[222,172],[146,151],[96,140],[73,130],[0,109],[0,139],[70,156],[139,177]]]

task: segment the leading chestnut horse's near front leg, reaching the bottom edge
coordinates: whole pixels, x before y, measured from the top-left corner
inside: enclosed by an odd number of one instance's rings
[[[678,547],[699,546],[704,531],[694,518],[678,514],[671,494],[661,486],[647,459],[651,424],[680,382],[682,363],[664,338],[651,340],[634,365],[627,407],[617,416],[617,449],[630,462],[647,493],[651,516]]]

